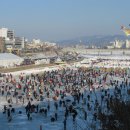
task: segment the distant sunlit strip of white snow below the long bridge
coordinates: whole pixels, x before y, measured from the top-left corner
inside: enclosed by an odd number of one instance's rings
[[[81,55],[84,60],[77,67],[130,68],[130,56],[127,55]]]

